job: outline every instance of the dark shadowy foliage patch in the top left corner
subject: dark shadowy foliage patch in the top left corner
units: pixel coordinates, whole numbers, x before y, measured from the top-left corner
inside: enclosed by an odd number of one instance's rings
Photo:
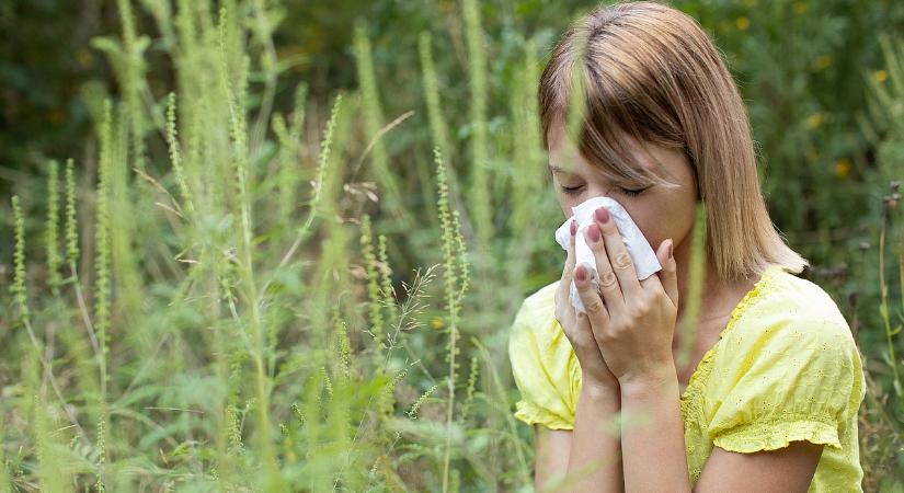
[[[0,192],[41,173],[48,156],[85,152],[91,122],[79,91],[105,81],[90,39],[112,25],[100,1],[0,2]],[[112,20],[115,22],[115,18]]]

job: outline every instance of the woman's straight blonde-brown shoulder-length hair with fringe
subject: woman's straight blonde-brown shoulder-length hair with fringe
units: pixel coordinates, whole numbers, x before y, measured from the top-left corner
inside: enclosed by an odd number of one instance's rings
[[[693,18],[641,1],[599,5],[573,23],[540,77],[547,151],[550,128],[574,113],[571,88],[583,92],[577,148],[607,177],[662,182],[632,164],[620,133],[685,152],[706,205],[707,255],[719,277],[758,277],[770,265],[800,273],[809,265],[773,226],[741,95]]]

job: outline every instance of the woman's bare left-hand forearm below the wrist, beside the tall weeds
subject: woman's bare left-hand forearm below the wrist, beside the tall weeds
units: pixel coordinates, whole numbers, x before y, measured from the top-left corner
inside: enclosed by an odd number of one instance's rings
[[[536,490],[625,491],[621,443],[614,425],[618,411],[617,389],[586,385],[581,387],[573,432],[535,425]]]

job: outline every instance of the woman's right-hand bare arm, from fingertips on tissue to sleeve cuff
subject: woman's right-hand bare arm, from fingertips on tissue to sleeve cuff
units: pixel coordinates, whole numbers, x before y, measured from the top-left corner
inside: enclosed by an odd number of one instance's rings
[[[594,254],[603,280],[600,288],[605,310],[591,310],[592,329],[607,367],[618,379],[623,415],[631,417],[632,422],[640,421],[637,425],[623,426],[621,431],[625,488],[632,492],[690,492],[678,378],[671,351],[678,307],[672,240],[663,241],[656,252],[663,268],[657,275],[639,282],[614,221],[609,220],[605,208],[596,213],[598,223],[591,225],[591,228],[602,230],[605,250],[598,248],[600,234],[596,231],[593,231],[595,238],[591,240],[597,240]],[[575,275],[575,285],[584,305],[598,305],[598,297],[585,279],[585,275]],[[826,334],[827,325],[823,319],[817,322],[817,330],[810,333]],[[835,340],[825,341],[823,337],[806,346],[812,352],[808,364],[823,358],[824,368],[835,368],[842,359],[833,358],[825,348],[842,347],[844,343],[829,344]],[[788,340],[779,341],[787,344]],[[803,341],[794,341],[791,346],[799,351],[797,347]],[[779,347],[790,349],[788,346]],[[816,351],[816,347],[823,349]],[[762,365],[768,363],[771,359],[760,359]],[[825,375],[829,374],[825,371]],[[821,447],[806,445],[786,446],[756,455],[732,455],[714,449],[701,472],[701,480],[698,480],[697,491],[736,491],[739,483],[743,484],[743,491],[804,491],[812,481],[821,452]],[[777,471],[771,467],[779,462],[782,477],[776,479]]]

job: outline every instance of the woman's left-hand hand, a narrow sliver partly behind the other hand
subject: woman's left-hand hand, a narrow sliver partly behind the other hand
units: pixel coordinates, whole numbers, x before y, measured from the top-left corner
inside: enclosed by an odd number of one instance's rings
[[[562,325],[565,336],[574,349],[574,355],[577,356],[577,362],[581,364],[582,387],[618,389],[618,380],[606,366],[606,360],[603,359],[603,354],[594,340],[590,319],[585,313],[579,313],[571,302],[571,282],[575,264],[575,229],[576,223],[572,221],[568,259],[562,271],[562,279],[556,290],[556,320]]]

